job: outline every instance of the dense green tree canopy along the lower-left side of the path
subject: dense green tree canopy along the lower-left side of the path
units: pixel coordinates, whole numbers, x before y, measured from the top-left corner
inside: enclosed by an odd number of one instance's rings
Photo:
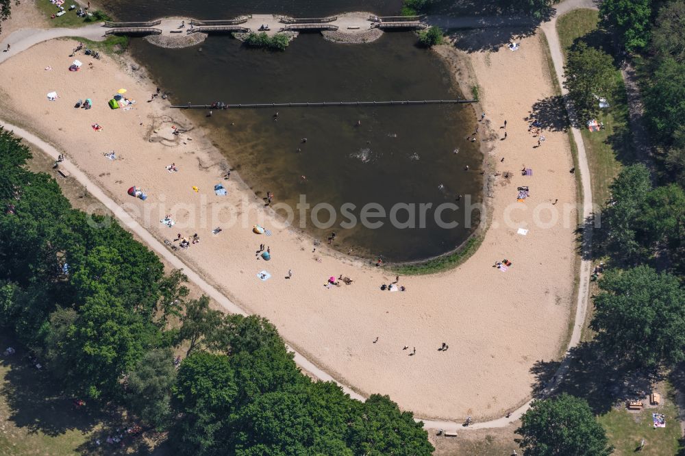
[[[114,221],[89,223],[49,175],[25,168],[29,157],[0,131],[0,327],[66,391],[169,430],[174,454],[432,452],[387,396],[361,403],[303,375],[265,318],[186,301],[181,271],[164,276]],[[178,372],[173,344],[187,346]]]

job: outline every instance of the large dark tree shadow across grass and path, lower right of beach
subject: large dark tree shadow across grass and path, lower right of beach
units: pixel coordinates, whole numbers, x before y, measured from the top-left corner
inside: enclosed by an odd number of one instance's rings
[[[635,369],[610,357],[593,342],[582,342],[566,354],[568,369],[560,377],[560,362],[538,361],[531,368],[536,381],[534,398],[547,398],[566,392],[588,401],[595,414],[604,414],[617,403],[643,398],[654,382],[662,380],[656,370]]]

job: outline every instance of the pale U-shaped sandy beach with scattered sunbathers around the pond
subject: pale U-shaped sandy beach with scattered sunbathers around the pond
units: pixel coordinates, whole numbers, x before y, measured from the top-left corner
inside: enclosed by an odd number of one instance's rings
[[[155,86],[142,70],[107,56],[77,55],[84,66],[70,72],[73,47],[72,40],[53,40],[0,64],[0,118],[63,149],[160,240],[197,233],[200,242],[177,254],[230,299],[273,321],[289,344],[341,383],[362,394],[389,394],[416,416],[482,419],[527,400],[534,381],[530,368],[556,357],[567,337],[576,261],[575,209],[566,210],[566,220],[549,221],[551,212],[575,207],[566,134],[546,131],[545,142],[534,147],[538,138],[524,120],[536,101],[553,94],[538,36],[521,40],[516,52],[503,47],[462,56],[481,86],[488,133],[481,126],[480,138],[494,137],[486,143],[488,161],[499,173],[492,221],[473,257],[446,273],[400,277],[406,292],[379,290],[395,281],[383,268],[324,245],[312,251],[312,240],[273,217],[235,173],[223,179],[229,164],[203,137],[201,125],[166,101],[147,103]],[[108,107],[119,88],[136,100],[131,109]],[[48,101],[53,90],[59,98]],[[74,108],[86,98],[93,101],[91,110]],[[508,135],[499,140],[505,120]],[[96,123],[100,131],[92,129]],[[172,126],[189,131],[175,136]],[[105,157],[110,151],[118,160]],[[172,163],[175,173],[166,170]],[[524,165],[533,175],[521,175]],[[216,183],[227,188],[226,197],[214,194]],[[130,197],[131,186],[148,199]],[[517,186],[530,186],[530,197],[512,205]],[[166,214],[174,227],[160,223]],[[238,223],[231,223],[231,214]],[[273,235],[253,233],[256,223]],[[223,231],[212,234],[219,226]],[[521,227],[525,236],[517,234]],[[271,249],[270,262],[256,256],[262,243]],[[493,268],[503,258],[512,262],[506,272]],[[258,279],[262,270],[271,279]],[[353,283],[324,286],[340,275]],[[443,342],[448,351],[438,351]]]

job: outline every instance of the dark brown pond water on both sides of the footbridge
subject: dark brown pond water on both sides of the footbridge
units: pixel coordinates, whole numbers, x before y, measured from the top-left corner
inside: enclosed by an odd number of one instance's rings
[[[127,21],[171,15],[230,18],[246,12],[397,14],[399,1],[119,1],[110,9]],[[173,93],[175,103],[462,97],[443,62],[415,44],[411,32],[384,34],[363,45],[339,45],[319,34],[301,34],[286,51],[271,52],[247,49],[229,36],[210,36],[187,49],[133,40],[132,52],[158,84]],[[456,222],[457,227],[439,225],[434,212],[443,203],[462,205],[466,195],[476,202],[482,199],[482,154],[477,143],[466,140],[476,124],[470,105],[283,108],[277,121],[269,109],[214,110],[210,118],[201,111],[186,113],[208,127],[212,141],[258,195],[269,190],[275,202],[293,208],[301,195],[310,207],[329,204],[336,214],[334,223],[308,223],[305,229],[319,239],[335,231],[334,246],[340,251],[352,248],[356,255],[382,255],[390,261],[424,259],[454,249],[477,225],[475,213],[473,225],[464,226],[461,207],[447,207],[440,214],[445,224]],[[464,171],[467,164],[469,172]],[[465,197],[457,202],[458,195]],[[359,220],[369,203],[380,205],[388,215],[397,203],[414,204],[416,212],[410,217],[410,209],[396,207],[399,227],[390,218],[374,218],[384,222],[377,228],[360,223],[348,227],[350,217],[345,214]],[[432,206],[425,212],[423,228],[422,203]],[[349,208],[345,214],[343,207]],[[326,222],[329,209],[322,209],[318,219]],[[410,218],[416,227],[407,223]]]

